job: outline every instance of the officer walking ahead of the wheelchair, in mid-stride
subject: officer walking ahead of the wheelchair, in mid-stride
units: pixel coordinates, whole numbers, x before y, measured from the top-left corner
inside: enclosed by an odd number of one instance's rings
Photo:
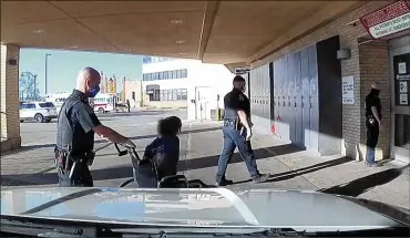
[[[263,183],[269,178],[268,174],[260,174],[257,169],[254,152],[250,146],[252,122],[250,102],[244,94],[246,82],[242,76],[234,77],[234,89],[224,97],[224,148],[218,161],[216,185],[225,186],[233,184],[233,180],[225,178],[226,167],[236,147],[244,158],[246,167],[255,183]]]

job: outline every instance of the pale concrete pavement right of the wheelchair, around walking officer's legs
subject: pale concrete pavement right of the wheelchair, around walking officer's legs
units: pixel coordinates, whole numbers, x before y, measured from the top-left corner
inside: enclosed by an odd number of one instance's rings
[[[191,179],[214,184],[222,132],[192,135],[188,143],[184,174]],[[394,162],[369,168],[344,156],[319,156],[276,136],[257,133],[253,137],[253,147],[259,170],[269,173],[271,178],[264,184],[252,183],[245,163],[236,152],[227,170],[227,178],[235,182],[230,188],[320,190],[410,208],[410,168],[406,164]]]

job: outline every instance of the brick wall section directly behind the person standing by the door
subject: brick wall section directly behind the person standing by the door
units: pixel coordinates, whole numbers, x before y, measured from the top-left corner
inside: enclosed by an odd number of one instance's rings
[[[387,41],[372,41],[359,45],[361,108],[365,108],[365,99],[372,83],[378,82],[381,90],[382,126],[376,151],[377,158],[387,158],[390,155],[390,80],[387,49]],[[362,144],[360,151],[363,153],[366,148],[363,146],[366,144],[365,110],[361,110],[360,118],[360,142]]]

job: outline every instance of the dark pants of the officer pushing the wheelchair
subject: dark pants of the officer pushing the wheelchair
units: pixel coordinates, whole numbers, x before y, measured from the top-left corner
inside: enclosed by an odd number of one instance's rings
[[[63,159],[63,163],[65,163]],[[75,165],[75,172],[73,173],[72,177],[69,178],[70,170],[72,164],[70,163],[68,169],[59,169],[59,187],[92,187],[93,186],[93,178],[89,166],[85,163],[79,162]]]

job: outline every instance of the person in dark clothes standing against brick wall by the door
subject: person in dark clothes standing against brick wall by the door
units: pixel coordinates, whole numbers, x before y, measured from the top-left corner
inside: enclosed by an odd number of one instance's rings
[[[375,163],[375,149],[379,141],[379,131],[381,125],[381,103],[379,99],[380,90],[378,83],[371,85],[370,93],[366,96],[366,128],[367,128],[367,153],[366,165],[377,167]]]

